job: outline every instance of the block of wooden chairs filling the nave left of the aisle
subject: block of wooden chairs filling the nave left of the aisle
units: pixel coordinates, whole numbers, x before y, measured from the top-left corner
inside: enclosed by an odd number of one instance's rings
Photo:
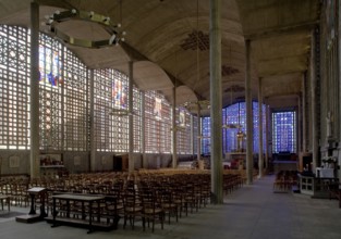
[[[14,180],[1,180],[0,193],[11,194],[15,186]],[[102,219],[118,219],[123,217],[123,227],[127,224],[134,228],[135,218],[141,218],[143,228],[146,225],[151,227],[156,222],[160,222],[163,228],[166,217],[168,223],[171,218],[175,222],[183,215],[188,215],[205,207],[210,201],[210,174],[207,172],[193,171],[144,171],[134,174],[127,173],[97,173],[97,174],[71,174],[65,178],[32,178],[31,180],[15,180],[15,185],[22,186],[23,199],[15,201],[29,204],[27,189],[32,187],[44,187],[47,189],[46,211],[52,212],[53,193],[86,193],[103,194],[103,200],[99,205],[94,205],[93,215],[100,215]],[[223,189],[231,192],[243,185],[241,175],[226,174],[223,176]],[[16,187],[17,188],[17,187]],[[10,190],[11,189],[11,190]],[[12,197],[12,196],[11,196]],[[13,193],[14,197],[14,193]],[[134,204],[132,204],[134,202]],[[36,199],[35,205],[39,207],[41,199]],[[64,216],[65,202],[58,202],[60,216]],[[87,206],[87,205],[83,205]],[[84,216],[87,212],[77,202],[71,202],[71,214],[73,217]],[[115,217],[113,215],[118,215]]]

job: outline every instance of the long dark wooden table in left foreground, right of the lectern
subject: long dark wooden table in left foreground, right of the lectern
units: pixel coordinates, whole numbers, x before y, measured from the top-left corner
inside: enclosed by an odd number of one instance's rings
[[[78,225],[84,226],[87,225],[88,234],[94,231],[94,222],[93,222],[93,204],[98,203],[98,209],[100,206],[100,202],[106,199],[105,196],[92,196],[92,194],[73,194],[73,193],[64,193],[64,194],[54,194],[53,199],[53,207],[52,207],[52,227],[58,226],[59,224],[69,224],[69,225]],[[66,203],[66,212],[65,217],[58,217],[57,214],[57,200],[65,201]],[[71,218],[70,217],[70,205],[71,201],[81,202],[82,203],[82,218]],[[85,203],[88,203],[88,219],[85,219]],[[98,218],[100,213],[98,212]]]

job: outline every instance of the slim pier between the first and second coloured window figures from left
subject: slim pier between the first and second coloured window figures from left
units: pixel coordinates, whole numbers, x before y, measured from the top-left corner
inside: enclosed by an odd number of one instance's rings
[[[90,87],[90,162],[89,162],[89,172],[96,171],[96,142],[95,142],[95,90],[94,90],[94,70],[90,70],[89,75],[89,87]]]

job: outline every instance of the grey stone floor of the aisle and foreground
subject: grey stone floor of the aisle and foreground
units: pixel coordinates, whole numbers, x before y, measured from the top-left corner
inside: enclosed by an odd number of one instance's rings
[[[60,226],[51,228],[46,222],[25,224],[15,217],[0,214],[0,238],[13,239],[76,239],[76,238],[173,238],[173,239],[333,239],[341,238],[341,209],[337,200],[312,199],[300,193],[273,193],[272,176],[257,179],[251,186],[226,196],[224,203],[208,205],[198,212],[174,219],[165,229],[156,225],[143,231],[136,227],[87,234],[84,228]],[[28,207],[12,207],[13,212],[28,212]]]

